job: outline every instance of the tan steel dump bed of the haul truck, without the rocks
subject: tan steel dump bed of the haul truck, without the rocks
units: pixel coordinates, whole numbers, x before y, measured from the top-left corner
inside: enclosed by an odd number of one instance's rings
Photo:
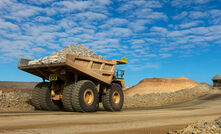
[[[91,77],[106,84],[111,84],[116,65],[127,64],[127,61],[104,60],[67,54],[62,63],[28,65],[28,59],[20,59],[18,68],[49,80],[50,74],[56,74],[63,81],[69,81],[76,75]]]

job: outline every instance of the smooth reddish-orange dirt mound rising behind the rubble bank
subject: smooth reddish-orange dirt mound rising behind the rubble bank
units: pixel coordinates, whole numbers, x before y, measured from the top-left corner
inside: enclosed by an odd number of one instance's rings
[[[125,91],[126,96],[144,95],[149,93],[175,92],[177,90],[193,88],[199,83],[186,77],[179,78],[151,78],[140,81],[137,85]]]

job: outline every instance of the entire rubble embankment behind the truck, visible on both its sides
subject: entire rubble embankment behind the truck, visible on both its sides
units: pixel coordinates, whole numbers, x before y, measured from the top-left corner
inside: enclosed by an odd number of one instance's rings
[[[190,101],[212,92],[208,84],[182,89],[169,93],[150,93],[145,95],[125,96],[124,110],[134,108],[153,108]],[[4,91],[0,88],[0,112],[32,112],[31,92]]]

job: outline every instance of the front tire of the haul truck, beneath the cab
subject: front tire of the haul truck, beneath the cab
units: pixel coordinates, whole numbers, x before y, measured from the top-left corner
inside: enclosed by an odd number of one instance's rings
[[[115,103],[113,100],[114,94],[118,94],[120,97],[118,103]],[[107,89],[106,94],[102,96],[102,103],[107,111],[121,111],[124,104],[124,94],[121,86],[117,83],[112,83],[110,88]]]

